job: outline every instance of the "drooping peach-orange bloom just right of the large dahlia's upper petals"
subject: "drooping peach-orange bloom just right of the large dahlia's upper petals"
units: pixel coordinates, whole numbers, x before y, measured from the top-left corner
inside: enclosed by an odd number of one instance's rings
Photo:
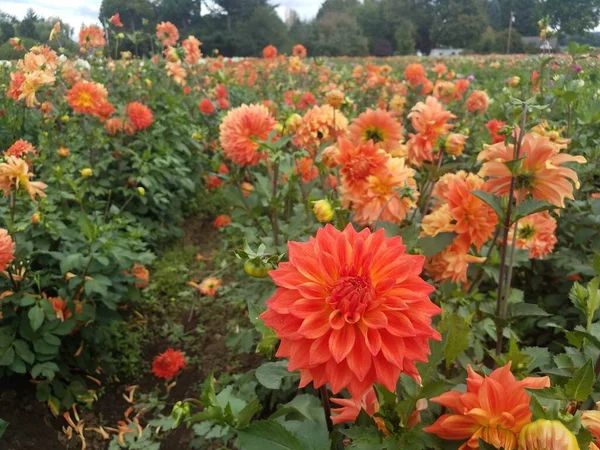
[[[483,257],[470,255],[468,245],[455,240],[445,250],[427,260],[425,271],[437,282],[466,283],[469,264],[484,261]]]

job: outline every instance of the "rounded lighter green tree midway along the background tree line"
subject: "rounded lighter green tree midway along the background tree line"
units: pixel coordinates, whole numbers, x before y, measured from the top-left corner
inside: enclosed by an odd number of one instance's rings
[[[369,41],[356,18],[346,13],[329,12],[317,21],[318,53],[326,56],[364,56]]]

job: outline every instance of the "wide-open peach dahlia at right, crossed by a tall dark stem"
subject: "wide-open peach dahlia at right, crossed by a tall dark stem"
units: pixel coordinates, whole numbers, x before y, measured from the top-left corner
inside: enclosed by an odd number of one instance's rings
[[[559,146],[547,137],[532,133],[525,134],[520,158],[523,158],[516,175],[515,196],[523,200],[527,194],[537,200],[545,200],[564,207],[565,198],[573,199],[573,184],[579,188],[579,178],[574,170],[562,164],[577,162],[583,164],[583,156],[559,153]],[[479,153],[477,160],[485,161],[479,175],[488,177],[485,189],[498,195],[509,193],[512,174],[504,164],[514,159],[512,144],[499,142],[488,145]]]

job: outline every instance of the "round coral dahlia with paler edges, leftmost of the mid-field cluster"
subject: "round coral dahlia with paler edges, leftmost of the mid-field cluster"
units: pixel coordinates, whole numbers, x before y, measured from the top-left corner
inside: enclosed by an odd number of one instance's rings
[[[266,141],[277,122],[263,105],[242,105],[227,113],[219,126],[225,156],[240,166],[254,166],[266,157],[256,140]]]

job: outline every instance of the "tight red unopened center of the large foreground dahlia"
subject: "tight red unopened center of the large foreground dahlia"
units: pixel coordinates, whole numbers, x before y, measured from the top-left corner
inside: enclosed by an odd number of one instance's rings
[[[365,313],[375,289],[367,276],[344,276],[335,282],[327,303],[339,311],[346,322],[356,323]]]

